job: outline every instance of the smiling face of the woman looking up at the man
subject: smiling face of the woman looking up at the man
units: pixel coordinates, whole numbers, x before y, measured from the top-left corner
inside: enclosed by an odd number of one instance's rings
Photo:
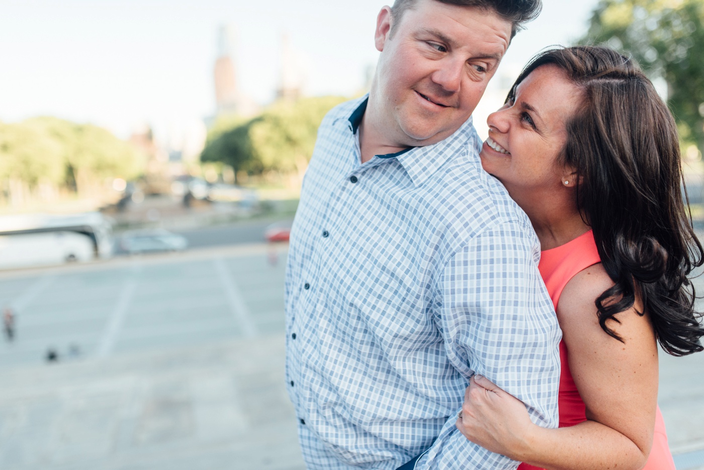
[[[513,101],[487,118],[482,166],[519,204],[574,185],[572,171],[557,158],[567,138],[565,123],[581,101],[562,70],[540,66],[516,87]]]

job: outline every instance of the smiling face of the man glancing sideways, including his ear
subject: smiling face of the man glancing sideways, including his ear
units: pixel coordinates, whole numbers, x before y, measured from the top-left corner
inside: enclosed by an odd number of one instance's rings
[[[397,20],[394,35],[391,22]],[[377,18],[382,52],[372,85],[372,125],[394,147],[434,144],[460,128],[494,76],[511,23],[494,11],[418,0],[403,16]]]

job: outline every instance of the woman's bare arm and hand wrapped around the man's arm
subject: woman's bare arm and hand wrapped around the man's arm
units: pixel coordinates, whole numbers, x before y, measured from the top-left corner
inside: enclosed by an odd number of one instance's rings
[[[494,452],[546,469],[641,469],[646,464],[658,398],[658,350],[648,316],[635,309],[599,326],[594,299],[613,285],[601,264],[574,276],[560,295],[558,319],[570,371],[586,404],[587,421],[546,429],[535,426],[524,405],[486,378],[465,393],[465,436]],[[636,305],[635,307],[639,307]]]

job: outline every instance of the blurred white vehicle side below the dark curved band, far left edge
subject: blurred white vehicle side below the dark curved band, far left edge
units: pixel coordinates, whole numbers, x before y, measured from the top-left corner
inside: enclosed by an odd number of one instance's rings
[[[81,233],[59,230],[0,236],[0,268],[90,261],[94,257],[93,241]]]

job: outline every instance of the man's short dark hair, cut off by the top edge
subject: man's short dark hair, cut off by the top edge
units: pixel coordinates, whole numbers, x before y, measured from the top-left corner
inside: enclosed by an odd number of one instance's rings
[[[511,39],[517,32],[523,29],[524,24],[538,18],[543,9],[541,0],[431,0],[439,1],[442,4],[456,6],[473,6],[482,8],[486,11],[496,11],[498,16],[504,20],[511,22]],[[406,10],[413,9],[417,0],[395,0],[394,6],[391,7],[391,23],[390,34],[394,34],[394,30],[398,23],[403,18],[403,13]]]

